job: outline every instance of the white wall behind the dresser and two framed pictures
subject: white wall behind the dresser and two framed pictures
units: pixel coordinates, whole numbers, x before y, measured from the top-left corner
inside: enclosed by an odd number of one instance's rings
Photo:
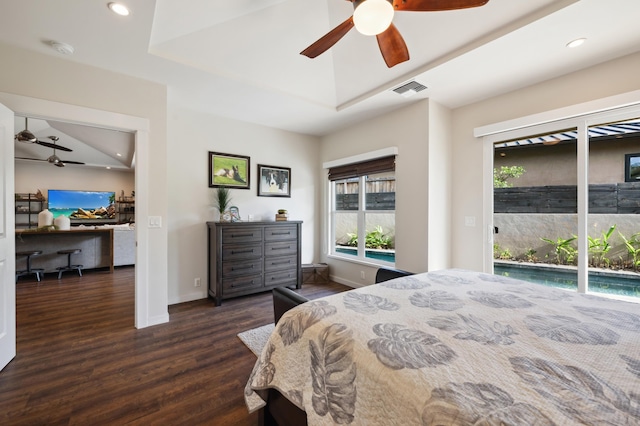
[[[320,140],[171,106],[169,92],[169,303],[207,297],[207,221],[218,220],[209,188],[209,151],[250,157],[250,189],[232,189],[243,220],[302,220],[302,263],[319,259],[316,236]],[[258,164],[291,168],[291,198],[258,197]],[[201,278],[202,287],[194,287]]]

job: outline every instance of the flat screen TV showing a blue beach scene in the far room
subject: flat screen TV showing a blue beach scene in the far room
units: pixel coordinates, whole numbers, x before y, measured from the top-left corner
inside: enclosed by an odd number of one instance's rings
[[[116,193],[113,191],[49,190],[49,211],[55,219],[64,215],[71,223],[116,222]]]

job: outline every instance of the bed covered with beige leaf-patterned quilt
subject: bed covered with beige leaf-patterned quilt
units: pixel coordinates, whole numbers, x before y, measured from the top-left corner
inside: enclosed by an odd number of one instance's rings
[[[245,387],[250,411],[274,394],[309,425],[640,424],[640,305],[463,270],[392,279],[286,312]]]

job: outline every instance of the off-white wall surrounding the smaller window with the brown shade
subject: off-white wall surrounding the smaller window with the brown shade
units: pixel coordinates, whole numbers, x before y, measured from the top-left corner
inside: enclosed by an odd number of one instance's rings
[[[437,116],[446,117],[446,109],[431,101],[419,101],[403,109],[387,113],[375,120],[357,124],[351,128],[323,137],[322,154],[319,163],[351,157],[388,147],[397,147],[396,157],[396,267],[413,272],[428,270],[429,246],[429,155],[430,137],[438,144],[446,139],[441,133],[430,134],[429,116],[435,108]],[[446,132],[444,132],[446,134]],[[440,145],[436,152],[448,148]],[[321,165],[317,167],[321,168]],[[446,167],[446,165],[445,165]],[[327,175],[320,170],[320,184],[323,188],[322,211],[328,209],[326,203]],[[433,178],[438,184],[447,186],[448,173]],[[440,199],[441,197],[437,197]],[[447,209],[437,205],[434,209]],[[323,261],[329,263],[331,276],[338,282],[354,287],[371,284],[375,278],[376,266],[353,263],[335,258],[327,258],[327,242],[324,235],[327,224],[322,228]],[[445,239],[441,243],[447,245]],[[448,249],[444,250],[448,253]],[[360,277],[365,272],[365,278]]]

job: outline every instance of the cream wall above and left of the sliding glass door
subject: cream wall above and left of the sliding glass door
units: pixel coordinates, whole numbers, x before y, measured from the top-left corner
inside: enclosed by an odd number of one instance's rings
[[[640,54],[633,54],[453,112],[453,155],[464,167],[452,176],[451,266],[483,268],[482,185],[491,176],[483,176],[482,143],[473,137],[474,128],[638,90],[639,70]],[[464,226],[465,216],[476,217],[477,226]]]

